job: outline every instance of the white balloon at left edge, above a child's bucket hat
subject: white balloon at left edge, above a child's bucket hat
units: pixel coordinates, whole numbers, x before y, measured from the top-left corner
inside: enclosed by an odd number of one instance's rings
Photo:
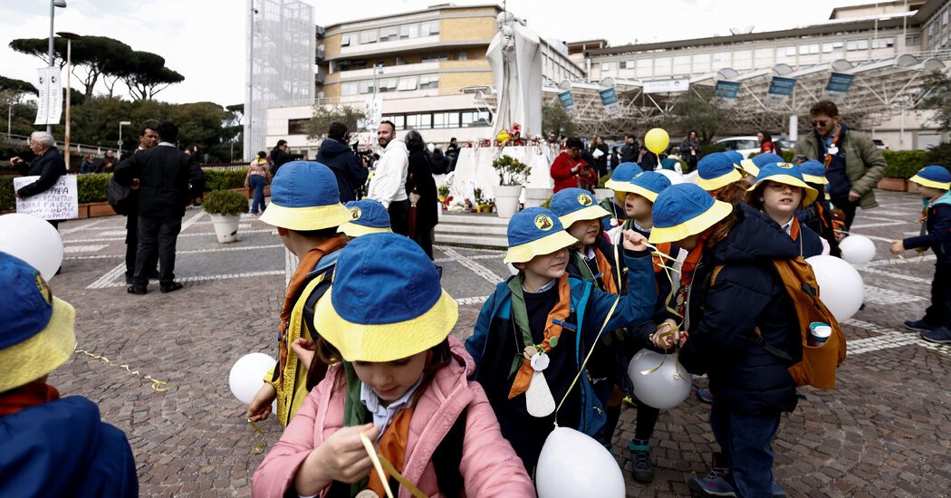
[[[0,251],[28,262],[52,279],[63,264],[63,239],[49,221],[33,215],[0,216]]]

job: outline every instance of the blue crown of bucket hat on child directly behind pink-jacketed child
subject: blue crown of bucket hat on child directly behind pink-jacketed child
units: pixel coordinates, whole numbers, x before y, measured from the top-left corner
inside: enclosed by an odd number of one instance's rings
[[[320,207],[340,203],[337,177],[313,161],[285,163],[271,182],[271,201],[281,207]]]

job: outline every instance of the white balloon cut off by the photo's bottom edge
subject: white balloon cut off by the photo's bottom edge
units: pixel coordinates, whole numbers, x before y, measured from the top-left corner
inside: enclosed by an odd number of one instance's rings
[[[535,469],[539,498],[622,498],[624,474],[611,453],[583,432],[555,428],[545,439]]]

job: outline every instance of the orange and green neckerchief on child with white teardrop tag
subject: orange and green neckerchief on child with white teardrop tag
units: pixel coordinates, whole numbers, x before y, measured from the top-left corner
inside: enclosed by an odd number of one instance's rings
[[[515,320],[515,326],[519,329],[526,329],[521,331],[522,335],[532,335],[532,331],[527,330],[529,326],[528,312],[525,307],[525,294],[522,291],[521,278],[509,280],[509,290],[512,291],[512,315]],[[524,318],[518,317],[518,314],[523,315]],[[541,344],[534,346],[546,354],[552,351],[552,337],[554,337],[554,341],[557,343],[558,338],[561,337],[561,324],[564,323],[571,314],[572,287],[568,283],[568,274],[566,273],[562,275],[561,278],[558,278],[558,302],[555,303],[552,311],[548,314],[548,318],[545,320],[545,323],[548,324],[545,327],[545,339]],[[518,323],[519,321],[524,321],[525,323]],[[581,331],[577,333],[581,334]],[[528,346],[533,346],[533,344],[525,344],[525,347]],[[512,389],[509,391],[509,399],[528,391],[529,383],[532,381],[532,373],[534,373],[532,362],[529,358],[522,358],[522,364],[518,368],[518,372],[515,373]]]

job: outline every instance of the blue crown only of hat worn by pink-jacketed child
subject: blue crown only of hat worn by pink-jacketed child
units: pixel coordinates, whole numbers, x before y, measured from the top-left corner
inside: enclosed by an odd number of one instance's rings
[[[330,298],[337,314],[351,323],[385,325],[422,316],[441,295],[436,265],[419,245],[380,232],[340,250]]]

